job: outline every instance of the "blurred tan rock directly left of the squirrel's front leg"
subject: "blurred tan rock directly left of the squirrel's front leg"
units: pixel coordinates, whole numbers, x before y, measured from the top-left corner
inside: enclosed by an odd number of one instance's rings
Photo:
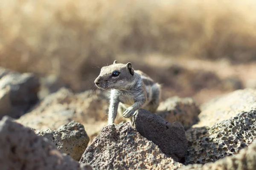
[[[52,129],[70,121],[84,125],[90,136],[99,133],[107,124],[108,97],[105,93],[86,91],[74,94],[61,88],[58,92],[48,95],[35,108],[21,116],[17,122],[36,130]],[[99,126],[95,126],[98,124]]]

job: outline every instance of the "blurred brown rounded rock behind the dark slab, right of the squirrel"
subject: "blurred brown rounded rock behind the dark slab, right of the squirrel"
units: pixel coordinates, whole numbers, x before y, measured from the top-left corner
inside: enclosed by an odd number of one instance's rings
[[[168,98],[160,103],[156,114],[166,121],[178,122],[188,129],[198,121],[200,109],[192,98],[179,98],[177,96]]]

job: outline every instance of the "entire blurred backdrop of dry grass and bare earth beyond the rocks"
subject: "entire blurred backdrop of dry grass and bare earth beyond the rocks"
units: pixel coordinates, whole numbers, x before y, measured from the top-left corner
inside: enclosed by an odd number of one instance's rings
[[[1,0],[0,66],[81,92],[114,60],[162,84],[162,99],[255,88],[256,1]]]

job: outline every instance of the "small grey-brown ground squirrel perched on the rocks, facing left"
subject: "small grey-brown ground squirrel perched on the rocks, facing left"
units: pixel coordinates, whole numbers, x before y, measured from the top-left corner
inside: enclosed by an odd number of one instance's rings
[[[100,89],[111,89],[108,124],[114,123],[117,112],[123,118],[131,117],[140,108],[154,113],[159,106],[160,84],[142,71],[134,70],[131,63],[116,62],[102,67],[94,81]]]

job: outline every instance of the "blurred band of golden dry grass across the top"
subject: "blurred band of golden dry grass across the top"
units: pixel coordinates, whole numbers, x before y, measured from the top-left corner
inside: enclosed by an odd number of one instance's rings
[[[58,74],[81,89],[99,72],[94,66],[113,58],[157,52],[249,62],[255,7],[253,0],[1,0],[0,66]]]

